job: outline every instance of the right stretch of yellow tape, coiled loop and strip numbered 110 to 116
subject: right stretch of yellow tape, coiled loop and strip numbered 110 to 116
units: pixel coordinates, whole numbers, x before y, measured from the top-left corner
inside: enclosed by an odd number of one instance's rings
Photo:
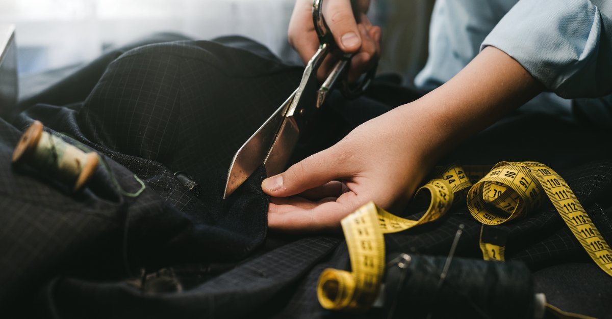
[[[501,185],[506,187],[506,190],[494,200],[490,200],[484,194],[491,196],[491,185]],[[468,209],[472,216],[482,224],[499,225],[523,216],[527,211],[539,206],[542,190],[591,259],[612,276],[610,246],[600,235],[599,230],[565,180],[542,163],[502,162],[497,164],[489,174],[470,189],[467,199]],[[487,207],[486,204],[491,204],[492,207],[491,205]],[[505,213],[510,213],[510,215]]]

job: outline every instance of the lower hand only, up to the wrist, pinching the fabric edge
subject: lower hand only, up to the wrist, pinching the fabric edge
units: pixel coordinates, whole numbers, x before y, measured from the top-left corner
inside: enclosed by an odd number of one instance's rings
[[[262,187],[273,196],[269,227],[331,230],[370,200],[386,208],[404,204],[429,171],[435,145],[429,128],[403,120],[409,109],[372,119],[333,147],[265,180]]]

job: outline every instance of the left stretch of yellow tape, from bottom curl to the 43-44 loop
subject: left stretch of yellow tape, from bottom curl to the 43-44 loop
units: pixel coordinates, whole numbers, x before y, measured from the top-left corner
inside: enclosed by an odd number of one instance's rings
[[[441,173],[443,179],[431,180],[417,190],[415,197],[428,191],[431,200],[429,208],[416,221],[392,215],[374,202],[342,219],[352,271],[327,268],[321,273],[317,284],[321,306],[332,310],[364,310],[371,306],[384,274],[383,235],[439,219],[452,207],[454,194],[471,185],[463,171],[455,166],[442,169]]]

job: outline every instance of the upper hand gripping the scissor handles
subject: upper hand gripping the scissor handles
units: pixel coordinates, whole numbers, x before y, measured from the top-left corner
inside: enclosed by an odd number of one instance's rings
[[[362,73],[376,64],[380,52],[381,28],[373,26],[365,15],[370,0],[357,0],[359,23],[356,22],[350,0],[323,1],[323,17],[344,53],[356,53],[348,71],[349,81],[356,81]],[[289,21],[289,44],[307,63],[319,48],[319,39],[312,21],[312,0],[297,0]],[[338,57],[330,54],[319,68],[317,76],[324,79]]]

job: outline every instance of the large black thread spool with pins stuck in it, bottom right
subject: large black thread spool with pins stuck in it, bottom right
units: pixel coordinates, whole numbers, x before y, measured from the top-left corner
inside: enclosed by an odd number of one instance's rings
[[[535,318],[542,308],[523,263],[455,258],[439,285],[446,257],[402,255],[387,270],[384,318]]]

